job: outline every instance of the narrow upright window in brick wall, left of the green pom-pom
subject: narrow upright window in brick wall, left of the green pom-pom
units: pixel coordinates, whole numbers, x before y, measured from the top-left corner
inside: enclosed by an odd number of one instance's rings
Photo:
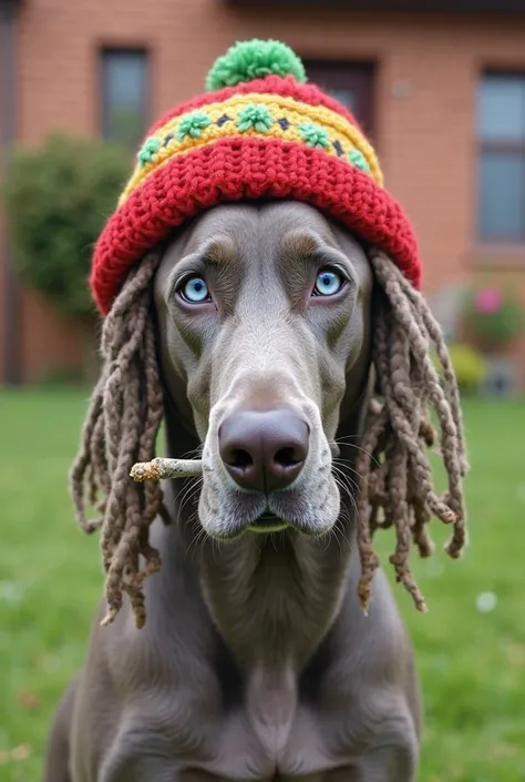
[[[102,134],[135,145],[147,130],[147,52],[102,51]]]

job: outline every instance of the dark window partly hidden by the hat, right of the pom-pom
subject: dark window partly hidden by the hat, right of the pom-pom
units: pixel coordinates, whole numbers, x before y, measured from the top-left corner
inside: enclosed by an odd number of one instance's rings
[[[373,63],[305,60],[305,68],[309,80],[346,105],[367,136],[373,139]]]

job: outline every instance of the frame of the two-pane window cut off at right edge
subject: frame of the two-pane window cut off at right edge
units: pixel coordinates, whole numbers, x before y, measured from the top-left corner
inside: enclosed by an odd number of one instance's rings
[[[525,89],[525,68],[497,68],[485,67],[481,70],[477,79],[476,101],[480,100],[480,91],[483,88],[483,82],[490,77],[501,77],[508,79],[519,79],[523,81]],[[475,236],[476,244],[481,247],[503,247],[517,248],[525,252],[525,210],[524,221],[518,235],[497,235],[488,236],[483,232],[481,224],[481,202],[482,202],[482,184],[480,181],[480,167],[484,153],[502,153],[502,154],[522,154],[525,160],[525,132],[522,139],[484,139],[482,129],[478,124],[477,103],[474,111],[475,124],[475,165],[476,165],[476,197],[475,197]],[[525,187],[525,186],[524,186]],[[524,194],[525,205],[525,194]]]

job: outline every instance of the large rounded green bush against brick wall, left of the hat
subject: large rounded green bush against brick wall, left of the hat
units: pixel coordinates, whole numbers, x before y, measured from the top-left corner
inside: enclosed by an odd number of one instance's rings
[[[16,267],[65,315],[95,315],[86,278],[94,242],[114,210],[130,152],[61,134],[14,153],[3,195]]]

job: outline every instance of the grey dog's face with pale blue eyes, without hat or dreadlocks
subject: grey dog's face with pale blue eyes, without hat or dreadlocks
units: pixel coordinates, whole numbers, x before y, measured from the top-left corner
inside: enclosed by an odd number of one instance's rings
[[[368,375],[371,294],[361,245],[301,203],[216,207],[165,251],[162,368],[204,444],[210,536],[334,525],[334,438]]]

